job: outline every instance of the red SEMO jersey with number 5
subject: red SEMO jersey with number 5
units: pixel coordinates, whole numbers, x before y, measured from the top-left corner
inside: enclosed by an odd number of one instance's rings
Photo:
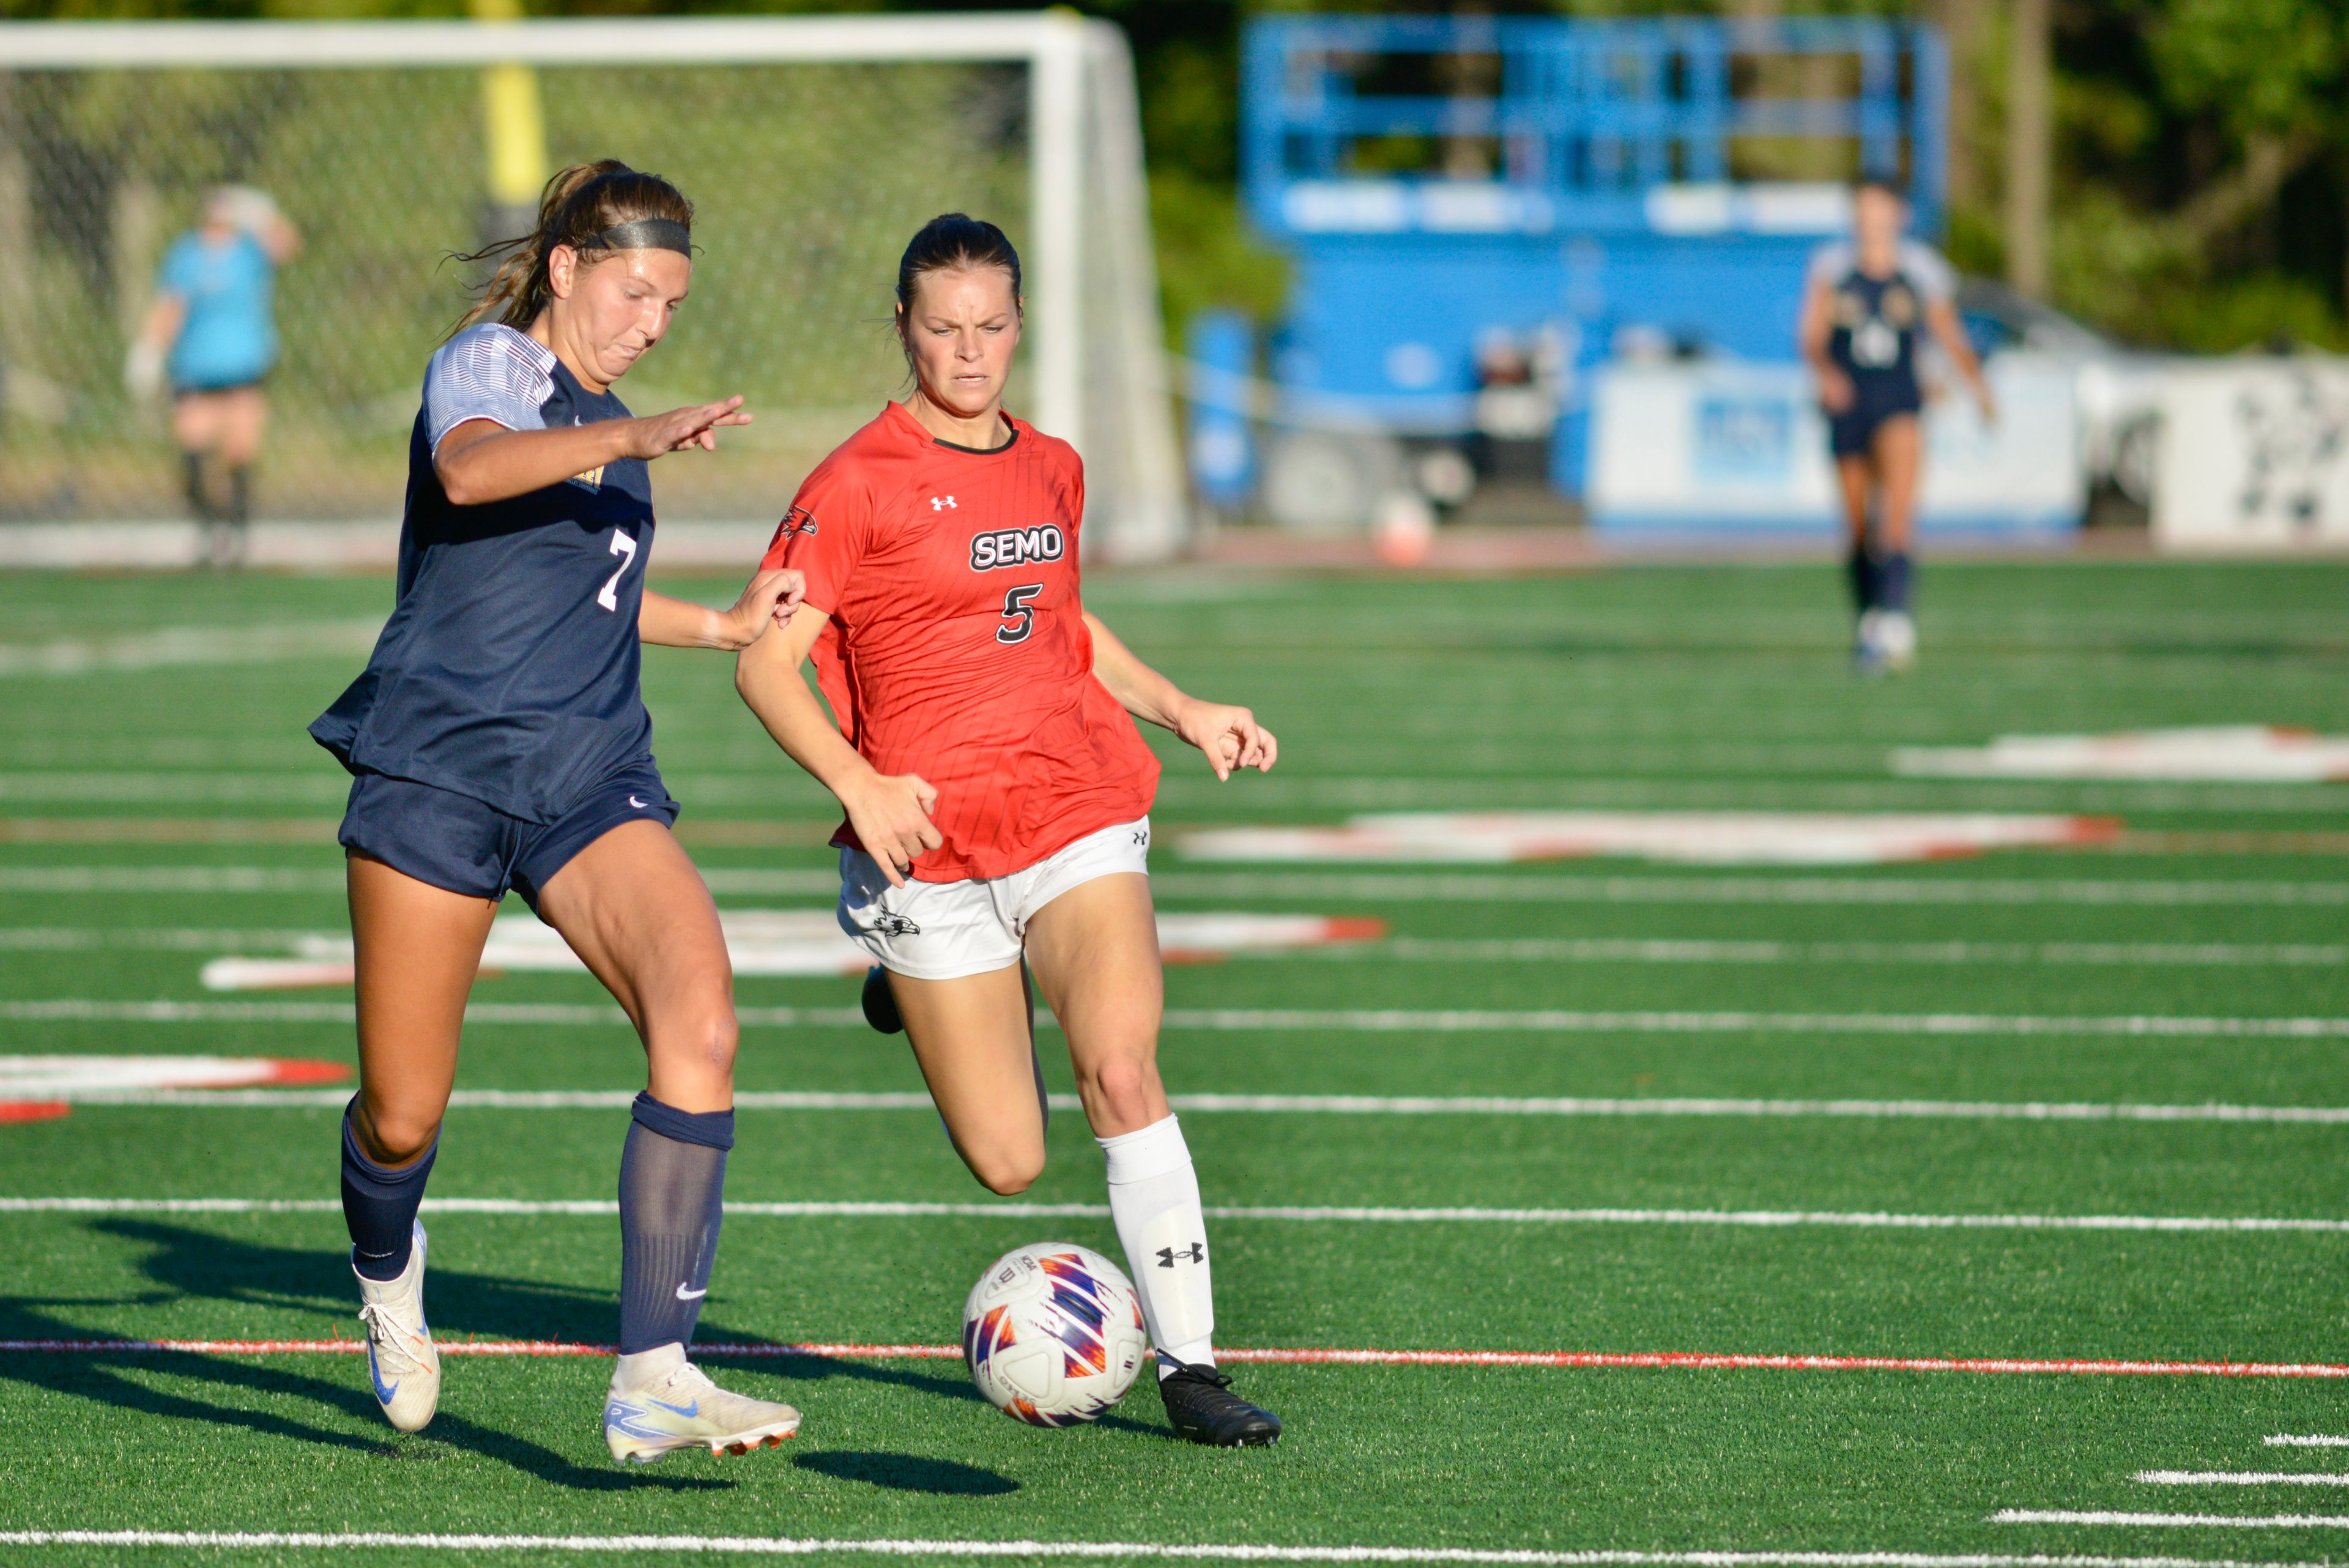
[[[1008,447],[935,440],[902,404],[799,487],[761,567],[808,574],[815,679],[881,773],[937,788],[921,882],[1005,877],[1146,816],[1158,757],[1092,677],[1076,543],[1085,468],[1003,416]],[[857,846],[848,823],[832,839]]]

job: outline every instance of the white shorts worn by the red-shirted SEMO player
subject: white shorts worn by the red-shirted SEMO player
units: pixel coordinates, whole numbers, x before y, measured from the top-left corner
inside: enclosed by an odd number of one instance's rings
[[[890,973],[958,980],[1010,969],[1027,950],[1027,924],[1069,889],[1095,877],[1151,870],[1151,818],[1088,832],[1008,877],[907,882],[890,886],[862,849],[841,851],[841,931]]]

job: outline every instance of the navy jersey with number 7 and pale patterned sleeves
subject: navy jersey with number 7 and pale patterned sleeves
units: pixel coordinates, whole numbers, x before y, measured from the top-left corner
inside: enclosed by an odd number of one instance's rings
[[[359,679],[310,724],[343,766],[552,823],[651,757],[637,646],[653,548],[644,461],[482,505],[453,505],[432,468],[467,418],[540,430],[627,416],[512,327],[470,327],[432,355],[392,618]]]

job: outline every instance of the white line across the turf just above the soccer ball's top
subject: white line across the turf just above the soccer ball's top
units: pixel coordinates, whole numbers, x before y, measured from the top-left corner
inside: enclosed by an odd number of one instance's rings
[[[341,1213],[341,1199],[103,1199],[0,1197],[0,1213]],[[608,1215],[613,1199],[425,1199],[425,1213]],[[726,1213],[763,1220],[1106,1220],[1109,1204],[738,1204]],[[1297,1225],[1729,1225],[1785,1229],[2088,1229],[2088,1232],[2314,1232],[2349,1234],[2349,1220],[2260,1215],[2044,1215],[2044,1213],[1839,1213],[1806,1208],[1344,1208],[1212,1204],[1214,1220]]]

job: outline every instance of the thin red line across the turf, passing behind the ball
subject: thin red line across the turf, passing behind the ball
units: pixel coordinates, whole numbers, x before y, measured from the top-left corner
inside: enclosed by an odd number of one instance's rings
[[[571,1340],[437,1340],[444,1356],[611,1356],[613,1345]],[[0,1340],[0,1354],[357,1354],[366,1340]],[[958,1361],[961,1345],[695,1345],[698,1356],[839,1361]],[[2349,1378],[2333,1361],[2107,1361],[2086,1356],[1757,1356],[1689,1349],[1217,1349],[1219,1361],[1276,1366],[1569,1366],[1781,1373],[1978,1373],[2069,1378]]]

